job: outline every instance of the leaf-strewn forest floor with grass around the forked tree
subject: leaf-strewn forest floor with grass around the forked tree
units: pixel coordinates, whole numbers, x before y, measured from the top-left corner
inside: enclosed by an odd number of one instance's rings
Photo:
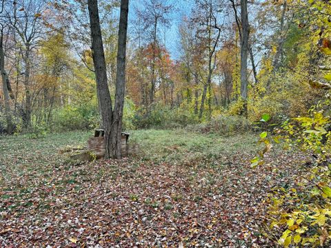
[[[251,169],[257,134],[183,130],[133,131],[121,161],[59,154],[91,135],[0,136],[1,247],[272,247],[265,196],[305,160],[276,148]]]

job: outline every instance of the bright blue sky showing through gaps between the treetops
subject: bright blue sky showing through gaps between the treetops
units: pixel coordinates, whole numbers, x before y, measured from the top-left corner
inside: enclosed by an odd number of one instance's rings
[[[137,18],[135,9],[143,8],[144,0],[131,0],[129,6],[129,27],[128,32],[132,32],[134,21]],[[149,0],[148,0],[149,1]],[[194,6],[194,0],[169,0],[174,4],[174,11],[170,14],[171,24],[169,28],[159,28],[159,39],[165,43],[165,48],[170,52],[172,59],[179,58],[179,24],[184,16],[188,16]]]

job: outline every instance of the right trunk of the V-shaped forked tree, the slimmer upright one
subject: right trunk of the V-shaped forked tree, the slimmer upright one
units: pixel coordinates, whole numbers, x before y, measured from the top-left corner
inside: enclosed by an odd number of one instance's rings
[[[124,94],[126,91],[126,39],[128,33],[129,0],[121,0],[121,13],[119,17],[119,44],[117,51],[116,94],[114,105],[114,131],[112,143],[114,158],[121,158],[121,132],[124,106]]]

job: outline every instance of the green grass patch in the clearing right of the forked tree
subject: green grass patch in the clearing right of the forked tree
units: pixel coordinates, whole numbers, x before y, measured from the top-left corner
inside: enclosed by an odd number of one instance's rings
[[[249,133],[221,136],[185,130],[137,130],[131,132],[130,142],[139,143],[142,158],[154,163],[183,163],[257,151],[257,134]]]

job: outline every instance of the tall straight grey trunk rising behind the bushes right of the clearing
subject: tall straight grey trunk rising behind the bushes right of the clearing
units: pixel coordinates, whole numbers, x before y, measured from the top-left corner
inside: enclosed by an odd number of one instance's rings
[[[247,78],[247,58],[248,58],[248,39],[250,35],[250,27],[248,24],[247,0],[241,0],[241,68],[240,93],[243,99],[243,115],[248,116],[247,96],[248,96],[248,78]]]

